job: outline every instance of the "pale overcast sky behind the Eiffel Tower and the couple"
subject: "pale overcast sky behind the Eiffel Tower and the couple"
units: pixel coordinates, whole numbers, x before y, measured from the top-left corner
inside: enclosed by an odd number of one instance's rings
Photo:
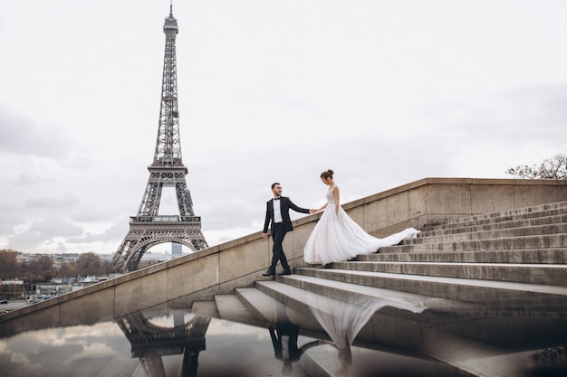
[[[168,0],[0,0],[0,249],[113,253],[148,183]],[[183,161],[209,245],[270,184],[343,203],[567,152],[564,0],[185,0]],[[166,190],[160,214],[177,214]],[[163,248],[162,248],[163,249]]]

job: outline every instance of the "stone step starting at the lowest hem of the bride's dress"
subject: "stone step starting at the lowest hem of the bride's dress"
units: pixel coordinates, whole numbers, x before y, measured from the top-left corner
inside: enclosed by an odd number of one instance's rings
[[[351,261],[333,268],[567,287],[567,264]]]

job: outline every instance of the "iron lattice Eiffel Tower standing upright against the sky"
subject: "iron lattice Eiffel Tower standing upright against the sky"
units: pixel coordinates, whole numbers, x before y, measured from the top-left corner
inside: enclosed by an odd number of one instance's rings
[[[201,218],[193,212],[193,202],[185,180],[187,167],[181,159],[175,48],[178,21],[173,17],[173,5],[169,5],[169,15],[165,19],[163,32],[166,34],[166,50],[154,161],[148,167],[148,185],[138,214],[130,217],[130,231],[112,257],[112,264],[117,272],[138,269],[144,252],[159,243],[176,242],[194,251],[208,247],[201,232]],[[175,187],[178,215],[158,215],[163,187]]]

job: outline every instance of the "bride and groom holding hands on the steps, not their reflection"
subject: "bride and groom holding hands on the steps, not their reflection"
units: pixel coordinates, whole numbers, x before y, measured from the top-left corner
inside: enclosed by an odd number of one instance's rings
[[[331,169],[322,172],[323,184],[329,186],[327,203],[318,210],[307,210],[293,204],[290,198],[281,196],[282,186],[272,184],[274,198],[266,203],[264,231],[262,236],[267,237],[268,226],[271,225],[274,240],[272,264],[264,276],[275,275],[275,266],[280,260],[283,275],[291,274],[291,269],[283,253],[282,242],[287,231],[293,231],[289,210],[302,213],[323,211],[321,219],[315,225],[312,234],[303,248],[303,259],[311,264],[326,265],[332,262],[347,260],[360,254],[371,254],[381,247],[395,245],[401,240],[417,237],[419,231],[408,228],[379,239],[364,231],[359,224],[353,221],[341,208],[339,187],[334,184]]]

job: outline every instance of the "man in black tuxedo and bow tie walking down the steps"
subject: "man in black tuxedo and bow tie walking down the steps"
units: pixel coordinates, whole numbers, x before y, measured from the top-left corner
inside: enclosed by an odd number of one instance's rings
[[[313,213],[315,210],[306,210],[293,204],[290,198],[282,196],[282,185],[272,184],[272,193],[274,198],[266,203],[264,231],[262,237],[264,240],[268,237],[268,226],[272,231],[272,240],[274,240],[274,249],[272,249],[272,264],[269,269],[262,274],[264,277],[275,275],[275,266],[278,260],[282,263],[283,272],[281,275],[292,275],[292,269],[287,264],[287,258],[283,253],[282,242],[285,233],[293,231],[292,221],[290,219],[290,208],[295,212]]]

